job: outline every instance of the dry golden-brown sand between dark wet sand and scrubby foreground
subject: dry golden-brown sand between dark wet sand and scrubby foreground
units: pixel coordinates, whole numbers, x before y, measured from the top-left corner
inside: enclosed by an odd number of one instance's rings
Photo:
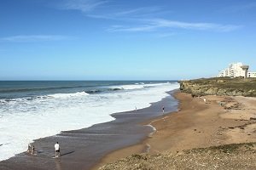
[[[178,92],[179,111],[145,122],[156,131],[140,144],[113,151],[105,156],[102,165],[131,156],[147,153],[156,155],[165,151],[206,148],[220,144],[256,142],[256,99],[248,97],[205,96],[192,98]]]

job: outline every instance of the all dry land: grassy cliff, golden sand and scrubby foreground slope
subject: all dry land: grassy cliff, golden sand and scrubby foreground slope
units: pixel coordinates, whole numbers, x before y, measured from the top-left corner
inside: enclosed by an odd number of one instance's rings
[[[255,169],[256,98],[244,97],[254,95],[255,79],[237,80],[180,82],[178,111],[144,122],[153,134],[95,169]]]

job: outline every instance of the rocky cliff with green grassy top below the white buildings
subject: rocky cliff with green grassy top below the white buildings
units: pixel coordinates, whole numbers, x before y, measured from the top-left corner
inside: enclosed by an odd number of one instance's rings
[[[256,78],[202,78],[180,82],[180,90],[192,96],[229,95],[256,97]]]

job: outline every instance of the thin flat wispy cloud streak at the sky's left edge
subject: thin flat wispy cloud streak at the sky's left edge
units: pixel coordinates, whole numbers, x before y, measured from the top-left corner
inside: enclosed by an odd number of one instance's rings
[[[61,41],[69,37],[60,35],[20,35],[12,37],[2,37],[3,42],[46,42],[46,41]]]

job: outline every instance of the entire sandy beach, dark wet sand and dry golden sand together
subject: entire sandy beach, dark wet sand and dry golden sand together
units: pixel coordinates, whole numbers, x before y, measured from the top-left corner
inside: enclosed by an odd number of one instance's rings
[[[176,92],[143,110],[113,114],[113,122],[35,141],[37,155],[21,153],[1,161],[1,169],[98,169],[134,154],[156,156],[220,144],[256,142],[256,99]],[[207,102],[204,102],[204,98]],[[161,107],[165,105],[166,115]],[[144,121],[143,121],[144,120]],[[146,120],[146,121],[145,121]],[[155,129],[152,131],[152,129]],[[58,140],[61,159],[54,156]]]

